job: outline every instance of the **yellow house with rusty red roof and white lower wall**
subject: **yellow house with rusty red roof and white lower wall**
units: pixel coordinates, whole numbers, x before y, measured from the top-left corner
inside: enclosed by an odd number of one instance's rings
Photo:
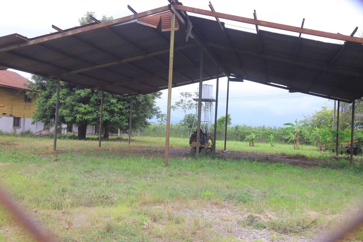
[[[0,130],[20,133],[44,128],[43,122],[32,124],[37,94],[32,98],[25,95],[30,90],[27,83],[28,79],[16,72],[0,70]]]

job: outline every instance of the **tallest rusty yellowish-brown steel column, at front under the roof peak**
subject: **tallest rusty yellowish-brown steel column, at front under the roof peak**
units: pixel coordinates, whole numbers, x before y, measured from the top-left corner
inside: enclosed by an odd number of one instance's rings
[[[168,108],[167,108],[167,115],[166,115],[166,137],[165,137],[164,167],[168,166],[168,161],[169,161],[171,86],[172,86],[172,82],[173,82],[173,60],[174,60],[174,30],[175,30],[175,13],[172,12],[171,13],[171,28],[170,28]]]

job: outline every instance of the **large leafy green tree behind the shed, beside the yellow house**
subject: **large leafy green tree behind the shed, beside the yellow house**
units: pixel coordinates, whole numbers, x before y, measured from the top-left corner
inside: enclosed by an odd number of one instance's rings
[[[79,24],[92,22],[89,15],[95,16],[94,12],[87,12],[79,19]],[[101,21],[113,19],[103,16]],[[57,82],[53,79],[33,75],[30,87],[38,90],[38,108],[33,116],[33,121],[50,123],[55,118],[55,103]],[[138,95],[133,101],[132,128],[145,127],[147,120],[158,114],[159,109],[155,106],[155,99],[160,98],[161,93]],[[101,91],[90,90],[85,87],[61,82],[59,121],[68,125],[78,126],[78,139],[86,138],[87,125],[94,125],[99,120],[99,108]],[[102,123],[104,127],[104,138],[109,137],[110,128],[127,130],[129,126],[130,97],[114,95],[105,92],[103,104]],[[101,132],[101,131],[100,131]]]

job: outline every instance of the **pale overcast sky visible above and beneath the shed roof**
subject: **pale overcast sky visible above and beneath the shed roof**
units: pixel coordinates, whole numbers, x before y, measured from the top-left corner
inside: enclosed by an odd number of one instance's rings
[[[207,0],[183,0],[183,5],[208,9]],[[32,0],[16,1],[1,0],[0,8],[0,36],[19,33],[26,37],[36,37],[54,32],[51,25],[62,29],[78,25],[78,18],[87,11],[93,11],[101,19],[102,15],[114,18],[130,15],[127,9],[130,4],[138,12],[146,11],[163,5],[167,0],[123,1],[123,0]],[[213,0],[213,7],[217,12],[253,18],[256,9],[258,19],[281,24],[301,26],[305,18],[305,28],[317,29],[332,33],[350,35],[356,26],[361,33],[363,27],[363,2],[361,0],[285,0],[285,1],[258,1],[258,0]],[[208,17],[208,16],[207,16]],[[253,25],[222,20],[228,28],[256,32]],[[233,26],[234,25],[234,26]],[[260,29],[291,34],[297,33],[284,30],[260,27]],[[326,42],[339,43],[339,41],[308,36]],[[30,74],[20,72],[26,78]],[[213,85],[215,80],[204,82]],[[184,91],[197,91],[198,84],[187,85],[172,89],[172,104],[179,99],[179,93]],[[215,96],[215,94],[213,94]],[[218,117],[225,115],[225,99],[227,96],[227,78],[220,79]],[[303,115],[310,115],[322,106],[332,107],[333,102],[305,94],[291,93],[287,90],[269,87],[249,81],[243,83],[230,83],[229,108],[232,124],[248,124],[252,126],[270,125],[282,126],[283,123],[293,122],[295,118],[301,119]],[[157,102],[161,110],[166,113],[167,91],[163,91],[162,98]],[[182,119],[183,114],[172,111],[171,122]]]

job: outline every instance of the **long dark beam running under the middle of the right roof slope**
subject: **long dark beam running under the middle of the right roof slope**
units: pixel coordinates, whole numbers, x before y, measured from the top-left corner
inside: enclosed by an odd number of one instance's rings
[[[234,47],[215,44],[215,43],[211,43],[211,42],[205,42],[205,44],[207,46],[211,46],[211,47],[215,47],[215,48],[219,48],[219,49],[224,49],[224,50],[229,50],[229,51],[236,51],[236,52],[240,52],[240,53],[244,53],[244,54],[249,54],[251,56],[264,57],[264,58],[270,59],[270,60],[276,60],[276,61],[281,61],[281,62],[286,62],[286,63],[293,63],[294,65],[305,66],[305,67],[309,67],[309,68],[313,68],[313,69],[326,70],[326,71],[329,71],[329,72],[332,72],[332,73],[351,75],[351,76],[354,76],[354,77],[363,76],[363,73],[359,73],[359,72],[356,72],[354,70],[347,70],[347,69],[341,69],[341,68],[337,68],[337,67],[330,67],[330,66],[327,66],[327,65],[325,65],[323,63],[316,63],[316,62],[312,63],[312,62],[302,61],[302,60],[298,60],[296,58],[291,58],[291,57],[274,56],[274,55],[271,55],[271,54],[258,53],[258,52],[254,52],[254,51],[251,51],[251,50],[234,48]]]

